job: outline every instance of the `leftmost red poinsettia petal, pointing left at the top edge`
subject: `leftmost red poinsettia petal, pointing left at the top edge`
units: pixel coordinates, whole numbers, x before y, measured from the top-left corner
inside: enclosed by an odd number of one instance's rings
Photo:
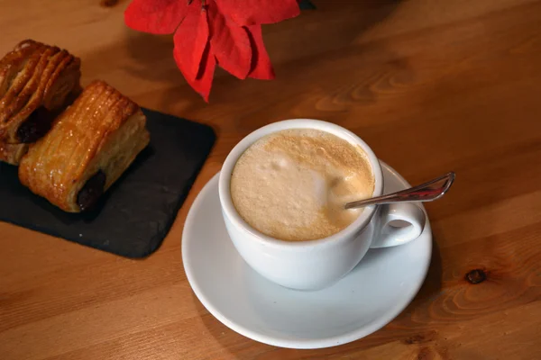
[[[124,12],[124,23],[137,31],[170,34],[187,10],[188,0],[133,0]]]

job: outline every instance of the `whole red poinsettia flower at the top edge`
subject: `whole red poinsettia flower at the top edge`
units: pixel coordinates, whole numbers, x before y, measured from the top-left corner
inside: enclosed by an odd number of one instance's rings
[[[297,0],[133,0],[124,21],[137,31],[175,33],[175,61],[208,101],[216,65],[241,79],[274,78],[261,24],[298,14]]]

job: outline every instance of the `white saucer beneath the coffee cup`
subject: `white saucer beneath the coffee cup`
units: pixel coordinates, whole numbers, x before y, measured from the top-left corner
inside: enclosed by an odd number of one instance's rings
[[[408,187],[381,163],[385,193]],[[197,298],[217,320],[247,338],[277,347],[334,347],[381,329],[411,302],[432,253],[430,223],[420,238],[371,249],[337,284],[299,292],[255,273],[225,230],[216,174],[197,195],[182,234],[182,260]]]

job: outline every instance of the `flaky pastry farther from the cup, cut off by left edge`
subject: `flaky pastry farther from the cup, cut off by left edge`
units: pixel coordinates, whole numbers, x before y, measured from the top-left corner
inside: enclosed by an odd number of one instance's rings
[[[30,143],[79,88],[80,60],[67,50],[23,40],[0,59],[0,141]]]

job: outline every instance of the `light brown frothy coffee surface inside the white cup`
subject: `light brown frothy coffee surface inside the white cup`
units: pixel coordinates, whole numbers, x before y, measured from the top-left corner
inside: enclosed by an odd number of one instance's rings
[[[243,220],[286,241],[326,238],[362,209],[344,203],[371,197],[374,176],[362,148],[329,132],[281,130],[247,148],[231,176],[231,197]]]

